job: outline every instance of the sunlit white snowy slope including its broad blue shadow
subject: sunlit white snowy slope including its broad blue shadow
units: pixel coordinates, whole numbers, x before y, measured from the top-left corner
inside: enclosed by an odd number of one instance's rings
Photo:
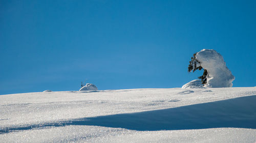
[[[256,88],[0,95],[0,142],[255,142]]]

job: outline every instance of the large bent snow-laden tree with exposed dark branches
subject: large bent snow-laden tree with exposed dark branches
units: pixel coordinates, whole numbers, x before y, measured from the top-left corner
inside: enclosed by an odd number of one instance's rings
[[[188,72],[204,69],[201,79],[204,87],[229,88],[232,87],[234,76],[227,68],[220,53],[213,49],[203,49],[194,54],[188,65]]]

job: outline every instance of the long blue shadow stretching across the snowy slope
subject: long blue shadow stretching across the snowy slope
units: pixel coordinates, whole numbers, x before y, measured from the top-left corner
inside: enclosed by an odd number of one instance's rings
[[[137,131],[207,128],[256,129],[256,95],[176,108],[82,118],[58,123],[0,129],[0,133],[46,126],[90,125]]]

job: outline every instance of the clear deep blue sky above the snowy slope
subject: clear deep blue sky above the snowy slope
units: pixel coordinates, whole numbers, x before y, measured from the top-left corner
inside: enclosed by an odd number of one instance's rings
[[[215,49],[256,86],[256,1],[0,1],[0,94],[177,88]]]

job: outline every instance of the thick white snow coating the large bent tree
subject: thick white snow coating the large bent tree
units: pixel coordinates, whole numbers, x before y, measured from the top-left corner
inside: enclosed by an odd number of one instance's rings
[[[206,87],[230,88],[232,87],[234,76],[227,68],[226,63],[220,53],[213,49],[203,49],[196,54],[196,59],[200,65],[207,70]]]

